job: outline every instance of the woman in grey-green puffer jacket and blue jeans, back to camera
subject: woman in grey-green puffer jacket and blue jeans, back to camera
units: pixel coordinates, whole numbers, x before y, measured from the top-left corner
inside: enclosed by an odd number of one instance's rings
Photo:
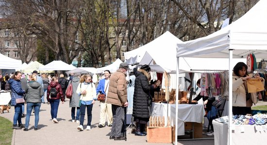
[[[26,97],[25,100],[27,102],[27,115],[26,115],[26,123],[25,129],[23,131],[28,131],[30,116],[34,108],[34,116],[35,116],[35,123],[34,123],[34,131],[37,131],[37,126],[39,122],[39,111],[41,107],[41,98],[44,95],[44,90],[38,82],[36,82],[36,75],[33,74],[31,76],[30,81],[26,87]]]

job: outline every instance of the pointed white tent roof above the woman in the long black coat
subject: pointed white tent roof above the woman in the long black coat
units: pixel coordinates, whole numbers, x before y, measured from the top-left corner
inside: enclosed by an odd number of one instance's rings
[[[151,71],[158,73],[176,72],[176,44],[182,42],[169,31],[144,46],[146,47],[139,65],[148,64]],[[139,48],[138,48],[139,49]]]

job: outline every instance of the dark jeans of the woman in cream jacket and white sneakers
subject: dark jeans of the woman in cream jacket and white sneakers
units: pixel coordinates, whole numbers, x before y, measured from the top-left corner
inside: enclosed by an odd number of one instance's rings
[[[81,106],[80,106],[80,112],[81,112],[80,125],[83,125],[84,116],[85,116],[85,108],[87,108],[87,126],[91,126],[93,104],[90,104],[90,105],[81,104]]]

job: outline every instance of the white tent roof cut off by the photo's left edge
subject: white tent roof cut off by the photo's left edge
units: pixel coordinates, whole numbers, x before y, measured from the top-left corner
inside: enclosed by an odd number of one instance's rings
[[[21,60],[9,58],[5,55],[0,54],[0,69],[20,69],[22,62]]]

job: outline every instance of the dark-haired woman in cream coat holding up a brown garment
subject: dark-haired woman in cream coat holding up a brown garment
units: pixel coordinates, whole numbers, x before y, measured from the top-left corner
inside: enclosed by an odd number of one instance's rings
[[[246,99],[247,80],[259,76],[248,74],[248,66],[244,62],[238,62],[233,71],[233,115],[251,114],[252,103],[257,103],[257,93],[250,93],[250,99]],[[259,77],[260,80],[264,80]],[[262,81],[264,83],[264,81]]]

